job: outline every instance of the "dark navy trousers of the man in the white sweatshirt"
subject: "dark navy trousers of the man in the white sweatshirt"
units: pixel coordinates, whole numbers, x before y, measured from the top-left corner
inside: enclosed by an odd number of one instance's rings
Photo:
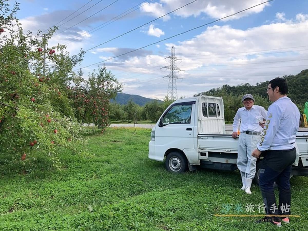
[[[265,212],[270,215],[290,215],[290,174],[296,158],[295,148],[291,150],[266,151],[260,168],[260,189]],[[274,183],[278,185],[279,205],[276,204]],[[278,219],[276,217],[276,219]],[[278,219],[279,220],[279,219]]]

